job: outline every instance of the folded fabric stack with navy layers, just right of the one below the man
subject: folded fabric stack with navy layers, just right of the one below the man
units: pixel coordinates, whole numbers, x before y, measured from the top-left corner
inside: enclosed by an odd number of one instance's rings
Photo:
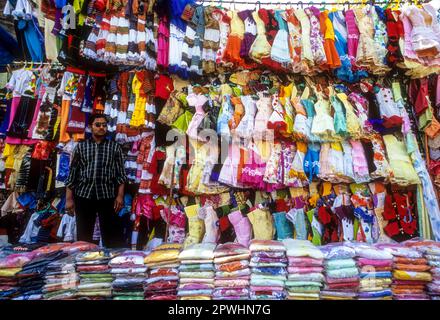
[[[125,251],[109,262],[113,300],[144,300],[147,267],[143,251]]]

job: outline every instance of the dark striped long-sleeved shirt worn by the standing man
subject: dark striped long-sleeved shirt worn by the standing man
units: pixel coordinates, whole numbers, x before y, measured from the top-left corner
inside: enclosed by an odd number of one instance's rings
[[[73,151],[66,187],[79,197],[111,199],[116,188],[127,181],[122,149],[114,141],[96,143],[89,139]]]

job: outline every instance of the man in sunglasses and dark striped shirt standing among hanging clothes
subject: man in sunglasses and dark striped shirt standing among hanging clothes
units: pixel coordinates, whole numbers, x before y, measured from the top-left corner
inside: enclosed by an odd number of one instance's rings
[[[96,214],[103,246],[124,247],[122,224],[117,213],[124,205],[127,180],[121,147],[105,138],[107,119],[93,114],[89,119],[92,138],[73,151],[66,181],[66,212],[76,215],[78,240],[92,242]]]

